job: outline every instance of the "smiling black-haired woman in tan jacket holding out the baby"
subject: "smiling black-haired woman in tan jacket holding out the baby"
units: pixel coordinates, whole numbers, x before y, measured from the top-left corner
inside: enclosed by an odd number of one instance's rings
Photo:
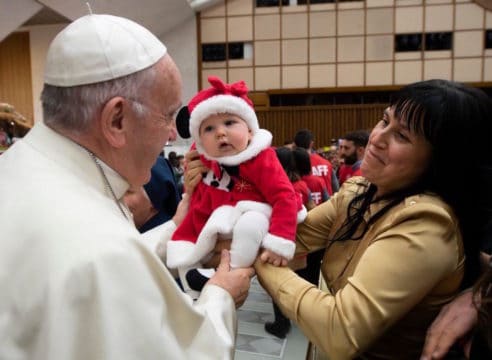
[[[439,310],[476,281],[492,218],[491,111],[485,93],[459,83],[403,87],[371,132],[364,178],[347,180],[298,226],[299,251],[327,248],[326,287],[260,255],[261,285],[316,354],[419,358]],[[469,160],[458,172],[456,144]],[[469,174],[483,186],[470,188]]]

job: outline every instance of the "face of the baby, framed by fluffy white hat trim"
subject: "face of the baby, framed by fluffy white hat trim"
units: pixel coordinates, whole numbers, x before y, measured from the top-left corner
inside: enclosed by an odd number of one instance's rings
[[[233,114],[214,114],[200,125],[200,141],[211,157],[239,154],[248,147],[251,130],[246,122]]]

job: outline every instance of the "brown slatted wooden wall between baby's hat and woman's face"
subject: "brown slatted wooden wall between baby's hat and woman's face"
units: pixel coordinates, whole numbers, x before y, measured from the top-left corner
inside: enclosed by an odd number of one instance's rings
[[[257,110],[260,127],[273,134],[273,145],[292,140],[300,129],[314,134],[315,147],[327,146],[332,138],[349,131],[371,130],[381,119],[387,104],[279,107]]]

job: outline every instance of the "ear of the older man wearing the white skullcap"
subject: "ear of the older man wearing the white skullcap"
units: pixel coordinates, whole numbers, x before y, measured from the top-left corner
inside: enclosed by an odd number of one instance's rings
[[[128,125],[127,109],[126,100],[117,96],[104,104],[101,111],[102,133],[108,143],[115,148],[121,148],[126,144],[128,135],[128,129],[125,128]]]

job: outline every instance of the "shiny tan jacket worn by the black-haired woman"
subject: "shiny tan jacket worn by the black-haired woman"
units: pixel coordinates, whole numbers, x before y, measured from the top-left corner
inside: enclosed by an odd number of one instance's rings
[[[389,210],[361,240],[330,244],[348,203],[367,186],[348,180],[298,227],[299,252],[328,246],[321,272],[329,291],[259,262],[258,278],[330,360],[418,359],[428,326],[463,277],[457,219],[437,196],[421,194]],[[372,204],[366,221],[384,205]]]

